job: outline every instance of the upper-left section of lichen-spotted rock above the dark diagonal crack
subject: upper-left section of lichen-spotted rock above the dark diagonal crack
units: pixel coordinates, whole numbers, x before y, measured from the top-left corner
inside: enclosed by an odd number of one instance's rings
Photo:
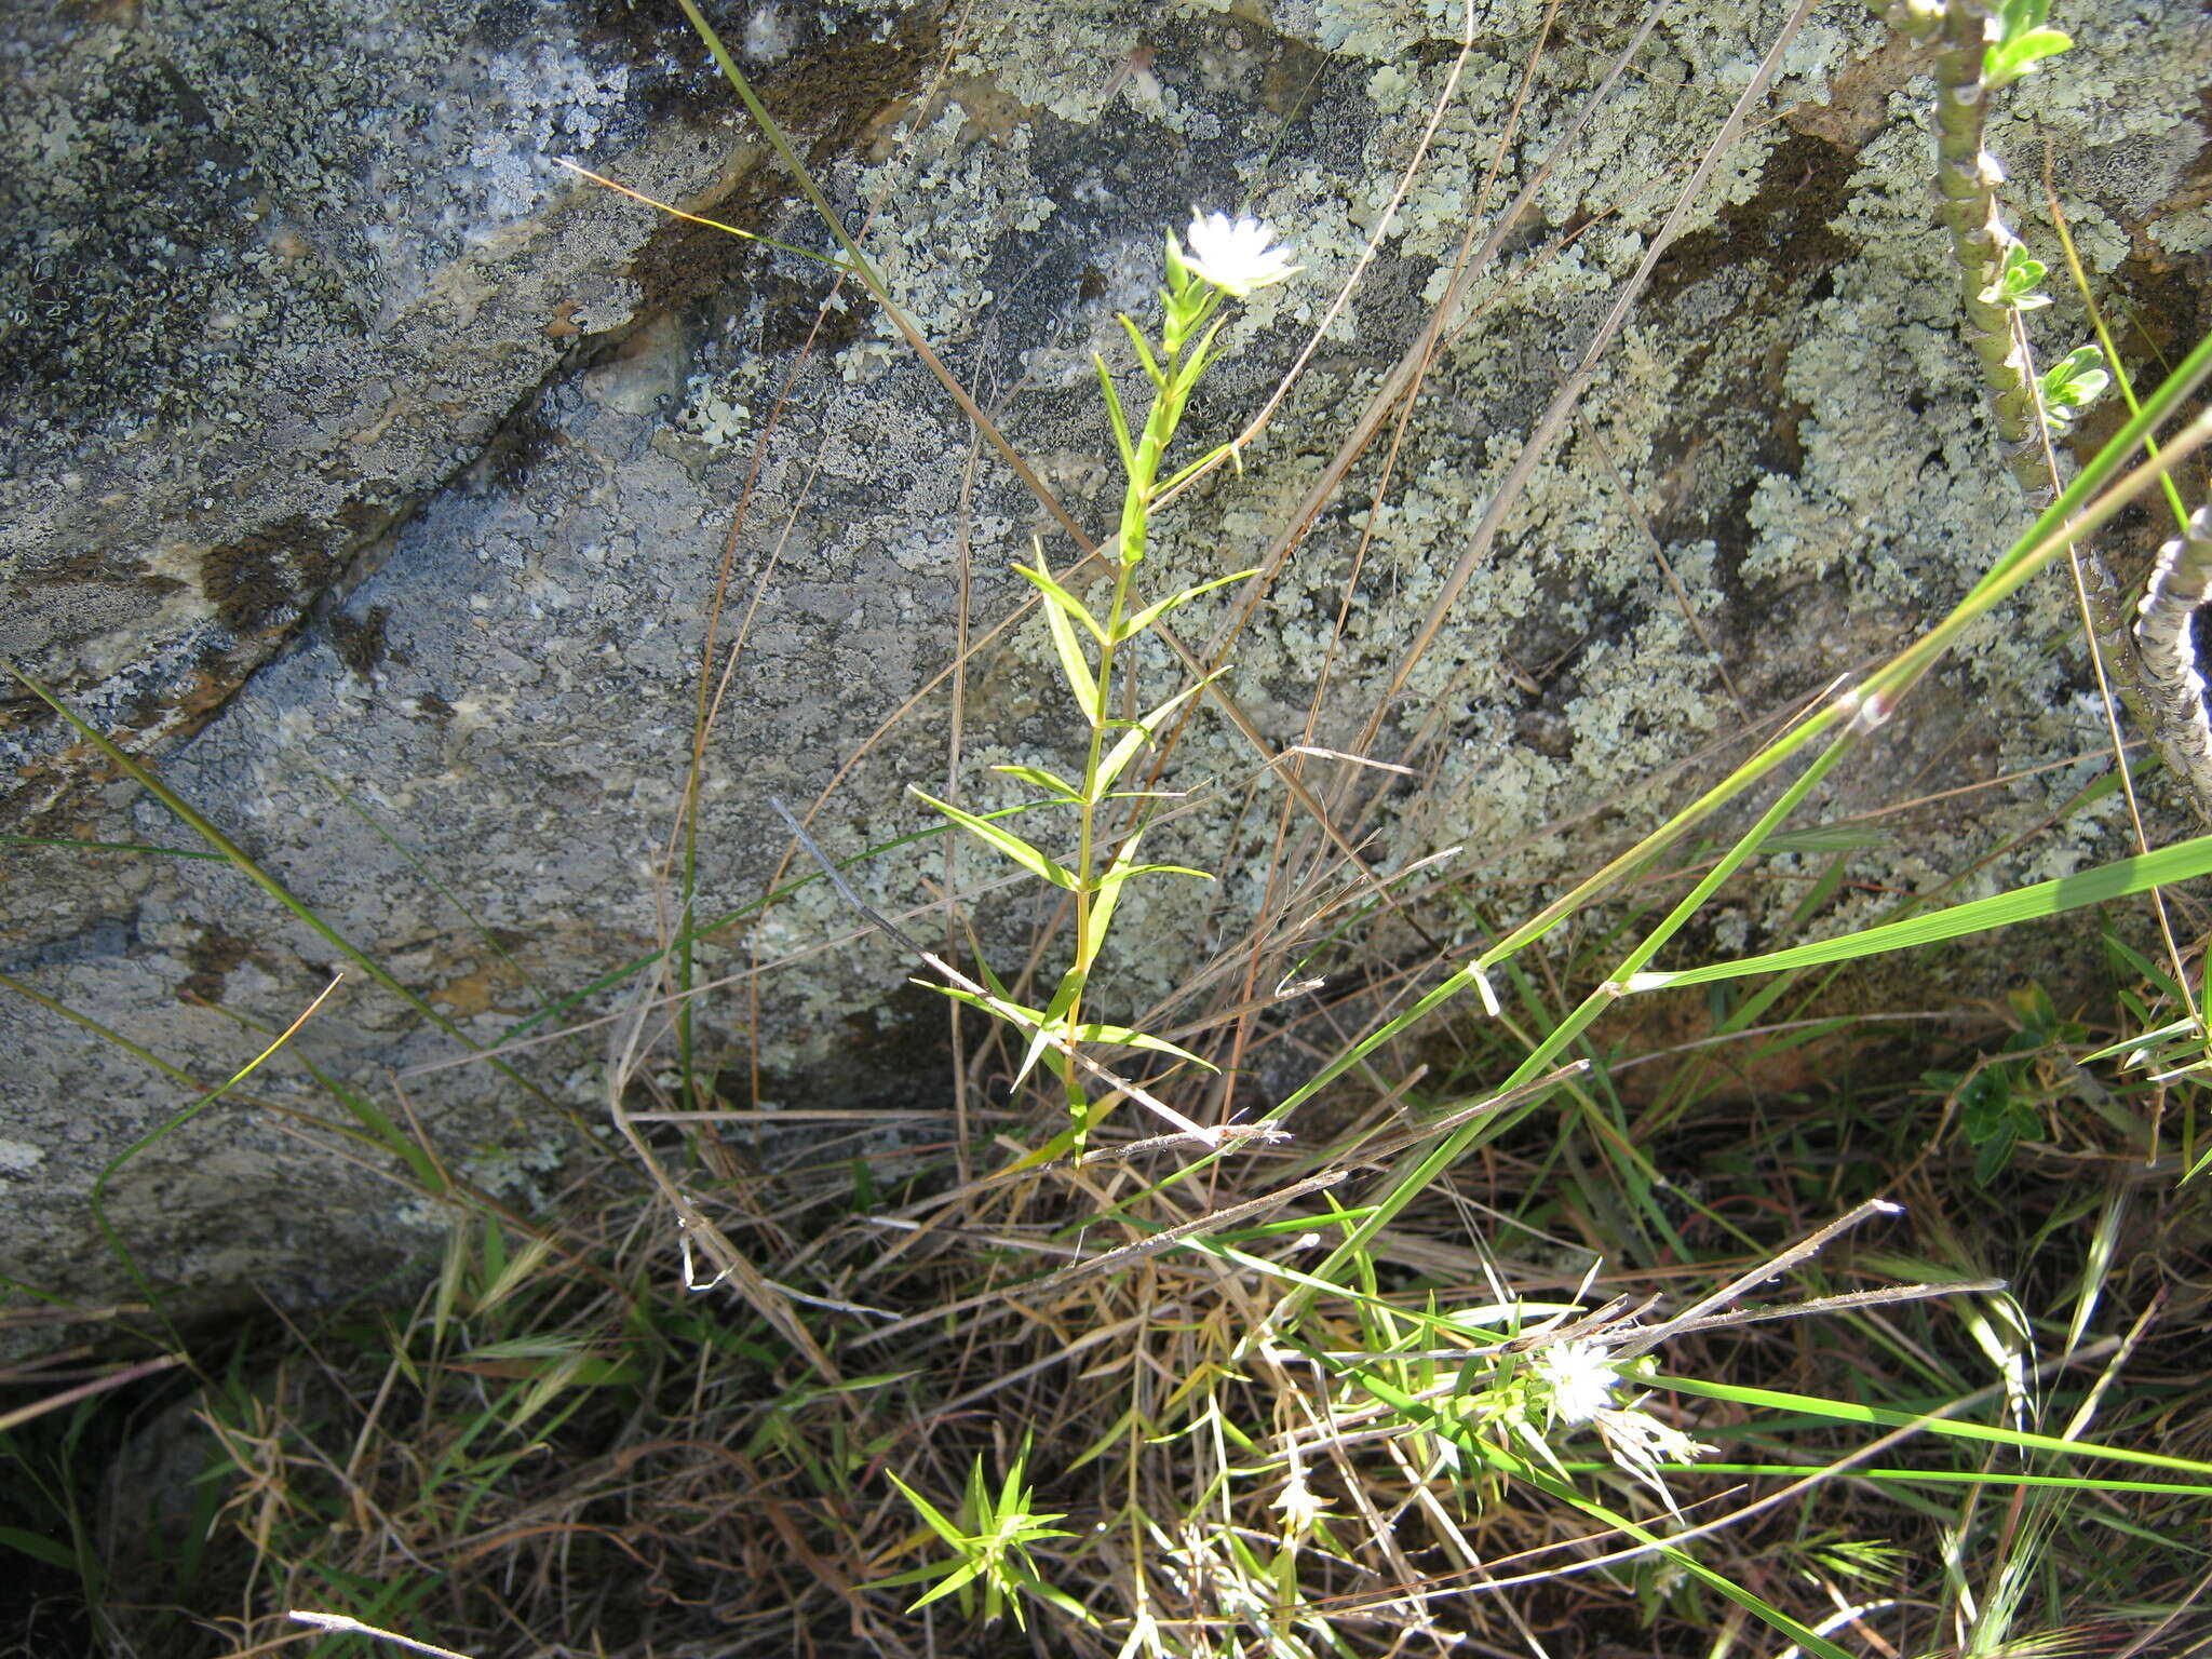
[[[0,648],[150,750],[498,465],[648,281],[666,303],[650,219],[562,161],[679,204],[752,161],[697,42],[626,0],[11,11]],[[914,44],[887,7],[825,15],[821,62],[781,58],[880,106]],[[872,113],[832,111],[801,115]],[[66,816],[51,717],[20,686],[0,714],[7,816]]]

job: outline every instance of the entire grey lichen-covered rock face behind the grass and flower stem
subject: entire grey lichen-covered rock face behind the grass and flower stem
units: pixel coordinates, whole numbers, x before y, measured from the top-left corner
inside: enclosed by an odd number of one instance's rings
[[[900,710],[951,664],[962,588],[982,633],[1020,604],[1009,566],[1033,535],[1055,564],[1073,549],[989,451],[962,489],[967,422],[856,288],[553,166],[575,157],[832,252],[672,9],[18,11],[0,126],[22,192],[0,230],[0,648],[128,734],[451,1026],[352,973],[241,1097],[131,1157],[106,1217],[155,1281],[204,1305],[248,1283],[321,1296],[442,1223],[389,1159],[345,1139],[358,1121],[310,1062],[396,1121],[414,1113],[442,1157],[520,1203],[586,1133],[566,1117],[602,1108],[602,1029],[518,1055],[535,1093],[442,1062],[465,1053],[453,1031],[491,1044],[661,938],[726,546],[719,637],[741,630],[743,648],[701,796],[703,914],[776,878],[787,843],[770,796],[823,799],[816,830],[836,852],[927,827],[905,787],[945,787],[949,692]],[[1223,684],[1272,750],[1305,737],[1325,666],[1312,741],[1358,739],[1785,11],[1668,13],[1478,279],[1380,504],[1371,451],[1232,650]],[[1192,445],[1217,442],[1265,403],[1383,226],[1460,35],[1458,7],[1422,0],[1024,2],[960,31],[920,4],[714,15],[847,223],[869,226],[900,305],[1093,533],[1117,491],[1091,352],[1126,367],[1113,312],[1148,312],[1161,230],[1192,204],[1250,204],[1307,265],[1230,325],[1192,414]],[[1460,100],[1374,263],[1243,473],[1164,524],[1157,591],[1265,551],[1418,338],[1542,7],[1475,18]],[[1632,24],[1630,7],[1577,9],[1573,38],[1548,46],[1493,208]],[[2024,177],[2053,146],[2093,274],[2161,349],[2185,349],[2212,243],[2208,31],[2190,4],[2139,4],[2079,35],[2006,95],[1993,142]],[[1798,35],[1770,115],[1387,710],[1378,750],[1429,783],[1376,801],[1369,856],[1394,869],[1464,847],[1460,909],[1440,907],[1433,929],[1473,927],[1482,898],[1528,909],[1588,845],[1657,816],[1666,785],[1639,794],[1648,779],[1902,644],[2022,522],[1953,334],[1924,93],[1858,7],[1825,7]],[[2031,243],[2048,243],[2033,192],[2015,204]],[[2037,327],[2064,349],[2081,323],[2062,301]],[[2068,604],[2051,584],[1980,628],[1832,805],[2024,776],[1909,816],[1856,876],[1933,880],[2095,772],[2101,712],[2066,646]],[[1203,644],[1230,615],[1194,606],[1179,628]],[[1146,672],[1168,686],[1164,657]],[[27,697],[4,714],[20,834],[195,845]],[[1018,628],[969,668],[958,787],[1000,805],[991,763],[1055,765],[1066,745],[1042,641]],[[2086,759],[2028,774],[2068,757]],[[1203,984],[1248,929],[1281,807],[1261,761],[1219,714],[1181,743],[1179,783],[1203,794],[1157,856],[1225,878],[1199,902],[1126,902],[1126,1004]],[[1323,763],[1307,779],[1334,783]],[[1559,821],[1575,832],[1553,834]],[[2110,827],[2075,816],[1986,883],[2070,869],[2108,849]],[[0,1219],[0,1272],[111,1294],[124,1274],[88,1212],[95,1179],[195,1084],[257,1053],[341,951],[219,863],[0,858],[0,967],[49,1000],[0,998],[0,1183],[20,1199]],[[960,856],[964,891],[1000,874]],[[891,911],[927,905],[942,876],[938,843],[856,872]],[[1765,938],[1801,887],[1767,891],[1721,918],[1723,947]],[[978,902],[991,940],[1035,920],[1024,894]],[[1878,905],[1845,898],[1820,925]],[[779,964],[703,1002],[701,1040],[737,1071],[759,1053],[785,1104],[927,1099],[942,1013],[854,927],[810,887],[701,947],[708,973]]]

